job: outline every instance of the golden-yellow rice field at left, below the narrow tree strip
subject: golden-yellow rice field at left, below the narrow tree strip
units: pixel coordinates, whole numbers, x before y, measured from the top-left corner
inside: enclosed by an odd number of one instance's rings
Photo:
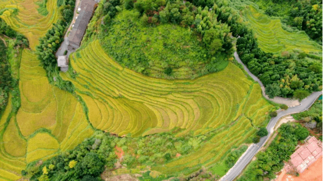
[[[11,113],[11,96],[0,120],[0,180],[16,180],[26,165],[74,148],[93,134],[76,98],[49,84],[30,50],[19,70],[21,107]]]

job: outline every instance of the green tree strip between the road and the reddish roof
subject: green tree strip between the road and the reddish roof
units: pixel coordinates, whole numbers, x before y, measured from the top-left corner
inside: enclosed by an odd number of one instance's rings
[[[290,159],[297,142],[309,135],[306,128],[298,123],[285,123],[278,129],[278,135],[264,152],[257,154],[238,181],[261,181],[276,177],[276,172],[284,167],[284,161]]]

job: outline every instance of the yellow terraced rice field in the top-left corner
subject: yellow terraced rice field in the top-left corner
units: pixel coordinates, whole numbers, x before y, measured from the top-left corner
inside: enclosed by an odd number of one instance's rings
[[[0,18],[10,25],[12,29],[24,34],[29,40],[32,49],[35,49],[38,39],[43,37],[59,18],[56,0],[47,1],[48,14],[46,16],[38,13],[39,6],[36,2],[33,0],[0,1],[0,9],[8,8],[0,15]],[[17,15],[13,14],[12,8],[18,9]]]

